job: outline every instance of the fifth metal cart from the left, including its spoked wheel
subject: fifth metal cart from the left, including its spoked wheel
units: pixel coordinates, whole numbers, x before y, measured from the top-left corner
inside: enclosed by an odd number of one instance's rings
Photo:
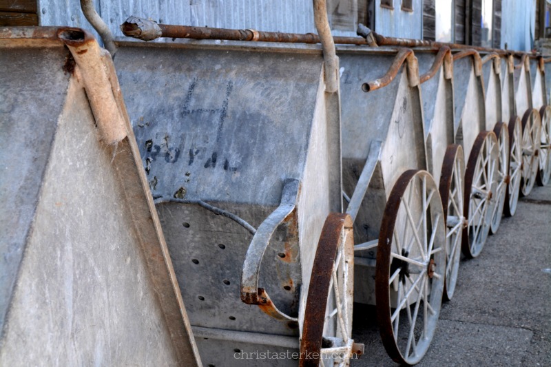
[[[462,251],[468,258],[479,255],[486,243],[497,189],[499,149],[494,132],[486,131],[486,98],[482,61],[477,51],[453,55],[455,139],[465,152],[464,229]]]

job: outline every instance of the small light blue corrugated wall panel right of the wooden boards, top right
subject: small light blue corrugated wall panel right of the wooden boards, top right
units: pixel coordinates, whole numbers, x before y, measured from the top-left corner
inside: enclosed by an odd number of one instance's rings
[[[403,0],[393,0],[393,10],[375,3],[375,32],[384,36],[423,38],[423,0],[413,0],[413,12],[402,10]]]

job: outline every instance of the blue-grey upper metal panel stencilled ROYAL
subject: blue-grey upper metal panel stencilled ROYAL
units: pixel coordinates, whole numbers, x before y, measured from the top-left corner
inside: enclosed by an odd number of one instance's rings
[[[302,176],[321,63],[321,54],[121,47],[118,78],[154,198],[183,188],[176,196],[279,205],[283,178]]]

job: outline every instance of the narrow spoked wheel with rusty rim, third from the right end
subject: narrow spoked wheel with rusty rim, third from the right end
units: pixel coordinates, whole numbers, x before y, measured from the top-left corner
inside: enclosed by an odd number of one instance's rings
[[[505,205],[503,213],[514,216],[519,202],[522,173],[522,123],[519,116],[509,120],[509,173],[507,190],[505,191]]]

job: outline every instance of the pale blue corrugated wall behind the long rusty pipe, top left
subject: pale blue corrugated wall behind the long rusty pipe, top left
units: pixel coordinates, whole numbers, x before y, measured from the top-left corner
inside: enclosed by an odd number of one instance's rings
[[[334,0],[333,3],[338,1],[349,0]],[[39,4],[41,25],[92,29],[82,14],[79,1],[39,0]],[[315,32],[311,0],[96,0],[94,5],[116,38],[123,37],[119,25],[130,15],[151,18],[164,24]],[[353,36],[355,25],[349,31],[338,30],[334,34]]]

